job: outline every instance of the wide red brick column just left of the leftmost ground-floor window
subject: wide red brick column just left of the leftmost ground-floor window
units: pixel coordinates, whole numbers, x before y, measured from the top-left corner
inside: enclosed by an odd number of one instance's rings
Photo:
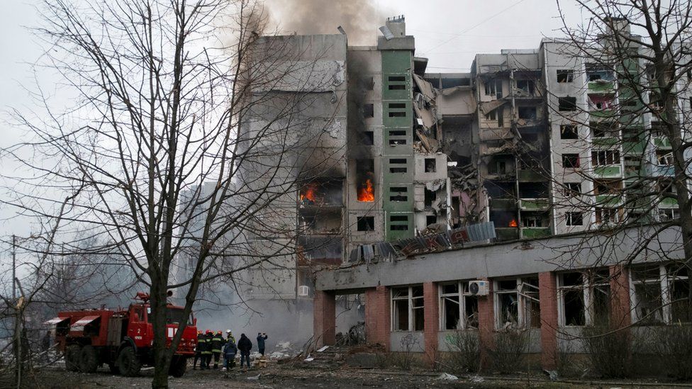
[[[391,309],[389,290],[385,286],[365,291],[365,336],[368,344],[381,344],[389,351]]]

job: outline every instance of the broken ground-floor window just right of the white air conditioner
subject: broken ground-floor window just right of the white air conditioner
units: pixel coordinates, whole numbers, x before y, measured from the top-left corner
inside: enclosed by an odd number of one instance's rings
[[[538,278],[495,281],[496,329],[540,327]]]

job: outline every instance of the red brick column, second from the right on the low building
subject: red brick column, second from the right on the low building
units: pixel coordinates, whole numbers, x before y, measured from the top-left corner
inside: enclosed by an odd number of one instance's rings
[[[541,309],[541,365],[557,368],[557,280],[549,271],[538,274],[538,298]]]

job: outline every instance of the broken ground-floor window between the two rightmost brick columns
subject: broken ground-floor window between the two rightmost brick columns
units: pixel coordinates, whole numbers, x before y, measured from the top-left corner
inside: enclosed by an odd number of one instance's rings
[[[608,269],[559,274],[557,298],[559,325],[598,325],[610,317]]]

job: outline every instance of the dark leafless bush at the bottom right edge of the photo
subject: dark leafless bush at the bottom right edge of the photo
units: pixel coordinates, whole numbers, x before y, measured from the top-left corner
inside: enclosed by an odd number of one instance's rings
[[[692,379],[692,326],[679,324],[657,328],[653,346],[668,376]]]

